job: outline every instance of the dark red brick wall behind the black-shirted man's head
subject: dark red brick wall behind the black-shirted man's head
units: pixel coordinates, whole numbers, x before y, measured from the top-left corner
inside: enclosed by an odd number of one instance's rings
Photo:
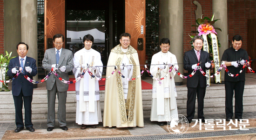
[[[247,20],[256,18],[255,0],[228,0],[229,40],[236,34],[243,37],[242,48],[247,50]]]

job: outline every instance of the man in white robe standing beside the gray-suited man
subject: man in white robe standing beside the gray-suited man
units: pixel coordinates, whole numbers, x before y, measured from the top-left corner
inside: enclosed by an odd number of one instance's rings
[[[90,34],[83,38],[84,48],[74,53],[74,75],[78,78],[83,70],[89,67],[90,72],[97,78],[101,78],[102,62],[101,54],[92,49],[94,37]],[[81,80],[75,83],[76,93],[76,123],[81,129],[87,125],[96,128],[95,125],[102,121],[100,106],[99,81],[90,76],[88,71]]]

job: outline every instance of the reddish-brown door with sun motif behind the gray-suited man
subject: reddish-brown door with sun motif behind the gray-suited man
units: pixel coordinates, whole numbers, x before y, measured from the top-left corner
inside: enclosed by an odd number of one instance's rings
[[[65,0],[46,0],[45,2],[45,50],[54,47],[54,34],[65,32]],[[65,42],[65,40],[64,40]],[[65,48],[65,43],[62,46]]]

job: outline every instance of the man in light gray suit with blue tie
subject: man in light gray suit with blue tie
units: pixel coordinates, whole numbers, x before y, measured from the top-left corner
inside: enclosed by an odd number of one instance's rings
[[[56,73],[64,80],[68,80],[68,72],[74,68],[73,54],[70,50],[62,48],[64,36],[55,34],[53,37],[54,47],[47,49],[42,61],[42,67],[48,72],[54,67]],[[67,130],[66,122],[66,100],[68,84],[59,80],[56,75],[51,74],[46,81],[48,98],[47,131],[52,131],[55,124],[55,99],[58,95],[58,122],[62,130]]]

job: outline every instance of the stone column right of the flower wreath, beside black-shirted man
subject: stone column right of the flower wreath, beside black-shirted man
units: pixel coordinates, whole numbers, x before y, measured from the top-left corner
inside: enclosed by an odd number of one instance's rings
[[[212,0],[212,11],[215,13],[214,19],[220,19],[214,23],[214,27],[222,29],[222,32],[216,30],[218,39],[221,42],[221,47],[219,47],[220,60],[222,59],[223,52],[229,47],[227,8],[227,0]],[[224,81],[224,68],[221,71],[221,80]]]

